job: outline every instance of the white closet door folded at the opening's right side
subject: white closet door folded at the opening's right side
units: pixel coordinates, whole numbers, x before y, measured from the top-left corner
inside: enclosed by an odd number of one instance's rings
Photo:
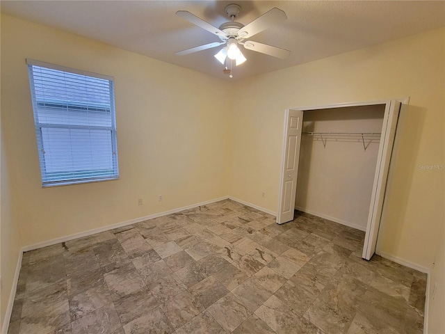
[[[380,146],[378,150],[377,167],[375,168],[373,193],[371,196],[371,205],[369,207],[368,224],[366,225],[364,239],[362,257],[366,260],[371,260],[371,257],[375,253],[380,218],[382,217],[383,200],[385,198],[385,190],[387,186],[389,161],[391,160],[400,109],[401,103],[397,101],[389,102],[385,109],[382,136],[380,137]]]

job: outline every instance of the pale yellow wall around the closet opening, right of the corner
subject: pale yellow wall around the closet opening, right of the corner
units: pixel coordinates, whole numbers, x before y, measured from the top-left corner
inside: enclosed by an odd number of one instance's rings
[[[430,267],[431,241],[444,223],[445,171],[419,164],[444,164],[444,49],[445,29],[438,29],[236,82],[229,193],[277,210],[284,109],[410,96],[378,251]]]

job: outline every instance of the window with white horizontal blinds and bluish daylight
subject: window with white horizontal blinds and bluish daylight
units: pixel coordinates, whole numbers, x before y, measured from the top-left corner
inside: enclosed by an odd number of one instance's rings
[[[26,63],[43,186],[118,179],[113,77]]]

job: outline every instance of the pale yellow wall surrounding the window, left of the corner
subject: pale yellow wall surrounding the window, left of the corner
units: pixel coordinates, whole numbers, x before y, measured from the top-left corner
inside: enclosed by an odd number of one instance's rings
[[[120,180],[42,189],[26,58],[115,77]],[[1,65],[25,245],[227,196],[227,82],[8,15]]]

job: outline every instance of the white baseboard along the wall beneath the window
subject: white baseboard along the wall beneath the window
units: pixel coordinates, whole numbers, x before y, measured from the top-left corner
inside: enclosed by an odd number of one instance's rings
[[[73,240],[73,239],[78,239],[78,238],[81,238],[81,237],[87,237],[88,235],[91,235],[91,234],[105,232],[105,231],[108,231],[108,230],[113,230],[115,228],[122,228],[123,226],[131,225],[131,224],[134,224],[134,223],[139,223],[140,221],[147,221],[148,219],[158,218],[158,217],[161,217],[161,216],[166,216],[168,214],[175,214],[175,213],[180,212],[180,211],[193,209],[194,207],[200,207],[201,205],[207,205],[207,204],[210,204],[210,203],[213,203],[213,202],[218,202],[220,200],[227,200],[227,198],[229,198],[229,196],[224,196],[224,197],[220,197],[220,198],[214,198],[213,200],[206,200],[205,202],[200,202],[200,203],[196,203],[196,204],[193,204],[193,205],[187,205],[186,207],[178,207],[177,209],[172,209],[172,210],[168,210],[168,211],[164,211],[164,212],[159,212],[157,214],[150,214],[149,216],[143,216],[143,217],[139,217],[139,218],[134,218],[134,219],[130,219],[129,221],[122,221],[121,223],[115,223],[113,225],[106,225],[106,226],[104,226],[102,228],[94,228],[92,230],[79,232],[79,233],[74,233],[74,234],[70,234],[70,235],[65,235],[64,237],[58,237],[56,239],[51,239],[51,240],[47,240],[47,241],[38,242],[37,244],[24,246],[23,251],[24,252],[28,252],[29,250],[35,250],[35,249],[42,248],[42,247],[47,247],[47,246],[52,246],[52,245],[55,245],[55,244],[60,244],[60,242],[66,242],[66,241],[70,241],[70,240]]]

